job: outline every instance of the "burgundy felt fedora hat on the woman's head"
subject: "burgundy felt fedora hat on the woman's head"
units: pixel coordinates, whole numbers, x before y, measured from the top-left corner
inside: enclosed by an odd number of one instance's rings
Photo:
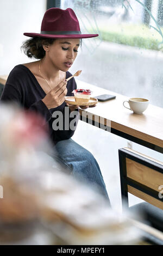
[[[41,32],[24,33],[24,35],[34,38],[93,38],[98,34],[82,34],[79,21],[71,8],[62,10],[60,8],[50,8],[43,16]]]

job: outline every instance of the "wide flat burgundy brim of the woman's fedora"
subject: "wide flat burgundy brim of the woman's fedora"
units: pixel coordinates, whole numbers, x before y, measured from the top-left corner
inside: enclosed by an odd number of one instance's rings
[[[38,34],[38,33],[24,33],[23,35],[29,36],[30,38],[95,38],[98,34],[77,34],[77,35],[49,35],[49,34]]]

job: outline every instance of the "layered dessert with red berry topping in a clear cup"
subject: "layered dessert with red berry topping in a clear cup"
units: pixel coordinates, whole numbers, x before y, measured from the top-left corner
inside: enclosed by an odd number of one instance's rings
[[[76,89],[72,92],[74,94],[77,104],[87,103],[90,100],[91,90],[89,89]]]

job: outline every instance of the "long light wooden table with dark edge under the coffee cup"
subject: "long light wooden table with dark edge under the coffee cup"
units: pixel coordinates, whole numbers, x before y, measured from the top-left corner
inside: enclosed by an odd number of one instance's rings
[[[88,117],[83,119],[86,123],[90,123],[89,119],[92,119],[92,125],[109,124],[111,133],[163,153],[163,108],[149,104],[143,114],[134,114],[123,107],[123,101],[128,100],[129,97],[76,81],[78,88],[91,89],[92,97],[101,94],[116,95],[116,99],[98,102],[94,108],[87,108],[85,111],[80,109],[80,120],[82,120],[82,112],[86,112]],[[101,117],[104,120],[102,122]],[[99,119],[98,122],[97,119]]]

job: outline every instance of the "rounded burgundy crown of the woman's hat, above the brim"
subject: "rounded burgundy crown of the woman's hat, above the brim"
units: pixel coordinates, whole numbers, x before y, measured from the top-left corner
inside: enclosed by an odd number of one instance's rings
[[[80,31],[80,26],[71,8],[50,8],[43,16],[41,31]]]

